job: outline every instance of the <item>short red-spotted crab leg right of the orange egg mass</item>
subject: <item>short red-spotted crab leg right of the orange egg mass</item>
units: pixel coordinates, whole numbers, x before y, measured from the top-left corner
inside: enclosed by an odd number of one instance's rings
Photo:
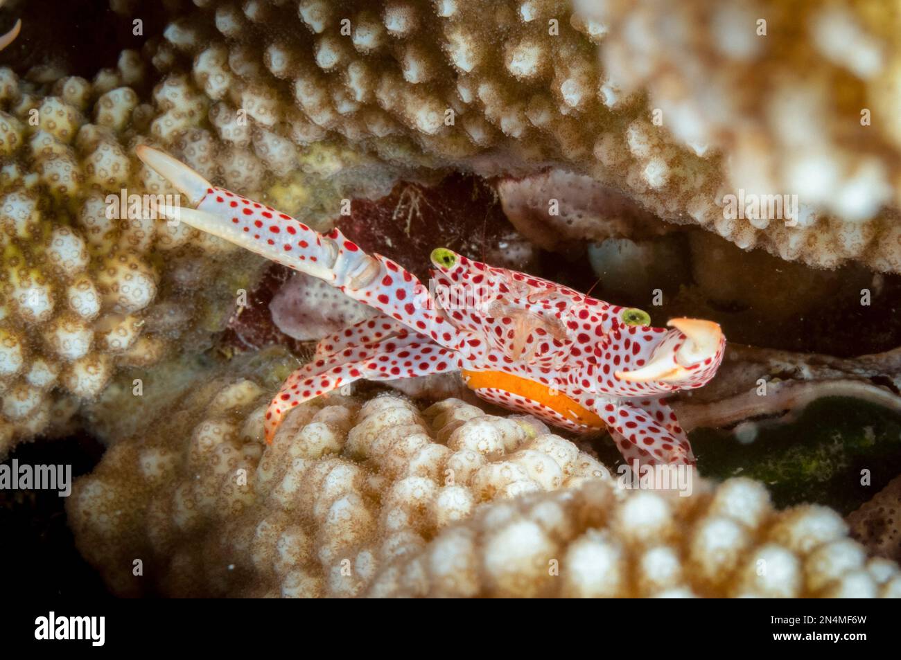
[[[601,411],[607,430],[627,461],[694,465],[685,431],[660,399],[608,404]]]

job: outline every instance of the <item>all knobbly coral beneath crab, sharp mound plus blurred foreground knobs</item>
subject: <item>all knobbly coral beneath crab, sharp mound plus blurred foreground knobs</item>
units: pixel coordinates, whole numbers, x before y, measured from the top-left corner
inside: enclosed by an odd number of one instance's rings
[[[70,524],[114,592],[901,594],[896,565],[868,560],[829,509],[773,511],[747,479],[623,490],[537,420],[459,400],[332,395],[267,447],[248,359],[77,481]]]

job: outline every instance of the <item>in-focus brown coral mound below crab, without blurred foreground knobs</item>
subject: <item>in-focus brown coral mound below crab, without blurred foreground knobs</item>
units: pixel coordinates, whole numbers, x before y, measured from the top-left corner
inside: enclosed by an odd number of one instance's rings
[[[267,447],[267,392],[252,377],[262,359],[198,375],[180,404],[126,392],[105,404],[144,422],[132,437],[119,427],[125,439],[77,481],[67,510],[114,592],[359,594],[481,502],[609,478],[541,422],[452,399],[419,411],[394,394],[333,394],[299,406]]]

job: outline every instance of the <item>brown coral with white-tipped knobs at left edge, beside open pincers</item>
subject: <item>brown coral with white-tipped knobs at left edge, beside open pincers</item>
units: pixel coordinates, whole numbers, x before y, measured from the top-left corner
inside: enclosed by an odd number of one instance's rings
[[[54,413],[96,397],[118,367],[205,340],[259,268],[144,201],[174,190],[134,144],[199,122],[203,97],[170,79],[141,103],[126,86],[145,80],[134,51],[100,78],[36,86],[0,69],[0,457],[52,433]]]

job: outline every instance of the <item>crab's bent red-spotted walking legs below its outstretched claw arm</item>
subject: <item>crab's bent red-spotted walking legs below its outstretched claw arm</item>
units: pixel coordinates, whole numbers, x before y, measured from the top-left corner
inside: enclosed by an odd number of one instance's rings
[[[331,355],[319,355],[317,349],[314,360],[288,376],[269,403],[264,424],[266,441],[272,442],[281,420],[291,408],[360,378],[394,380],[458,368],[459,358],[453,351],[409,330]]]

